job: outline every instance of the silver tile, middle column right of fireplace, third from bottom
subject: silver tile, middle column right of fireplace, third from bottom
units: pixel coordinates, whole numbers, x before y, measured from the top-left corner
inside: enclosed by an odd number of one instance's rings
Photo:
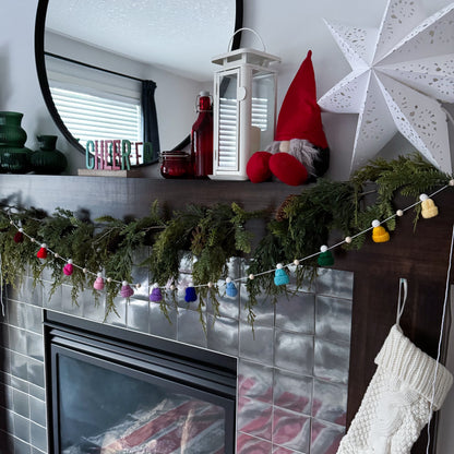
[[[276,368],[312,375],[313,336],[287,333],[276,330],[275,357]]]

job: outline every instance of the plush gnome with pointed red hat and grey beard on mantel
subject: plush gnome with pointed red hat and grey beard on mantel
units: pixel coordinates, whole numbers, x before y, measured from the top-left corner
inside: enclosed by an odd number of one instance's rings
[[[311,56],[309,50],[285,95],[274,142],[248,162],[246,171],[254,183],[274,175],[286,184],[299,186],[314,181],[327,170],[330,148],[316,104]]]

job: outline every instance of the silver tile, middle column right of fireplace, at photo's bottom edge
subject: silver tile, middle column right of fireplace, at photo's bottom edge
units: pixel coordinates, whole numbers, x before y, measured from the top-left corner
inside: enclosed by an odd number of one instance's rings
[[[273,443],[299,452],[309,452],[311,418],[283,408],[273,414]]]

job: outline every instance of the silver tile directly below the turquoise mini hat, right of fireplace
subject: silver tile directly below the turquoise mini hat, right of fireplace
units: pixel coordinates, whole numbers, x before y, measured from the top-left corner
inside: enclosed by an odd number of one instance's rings
[[[276,303],[276,327],[298,333],[314,333],[315,295],[297,292]]]

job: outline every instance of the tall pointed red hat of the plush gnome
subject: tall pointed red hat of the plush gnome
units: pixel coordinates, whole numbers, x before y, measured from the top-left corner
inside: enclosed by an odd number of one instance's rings
[[[309,50],[285,95],[274,140],[301,139],[312,145],[327,148],[321,111],[316,104],[315,75],[311,56],[312,51]]]

